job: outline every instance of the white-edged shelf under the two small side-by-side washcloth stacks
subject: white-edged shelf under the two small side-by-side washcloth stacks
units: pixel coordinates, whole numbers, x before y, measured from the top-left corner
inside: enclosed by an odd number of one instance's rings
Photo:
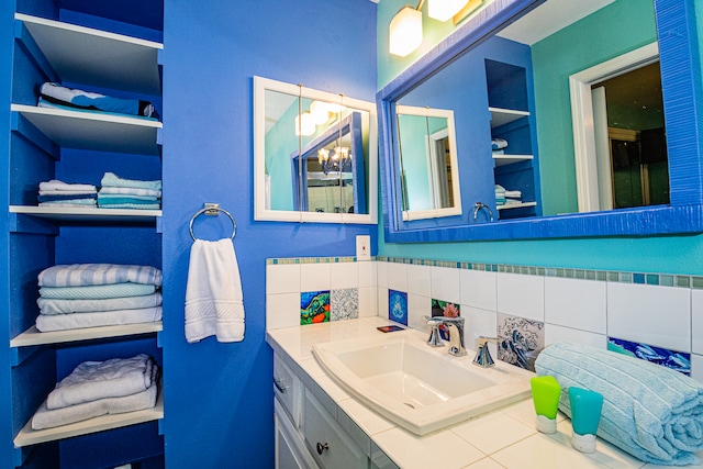
[[[145,222],[161,216],[160,210],[138,209],[72,209],[65,206],[10,205],[10,213],[41,216],[60,221]]]

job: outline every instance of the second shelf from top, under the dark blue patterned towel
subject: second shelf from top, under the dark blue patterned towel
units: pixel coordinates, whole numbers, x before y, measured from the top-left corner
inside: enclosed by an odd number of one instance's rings
[[[60,147],[143,155],[160,153],[157,134],[163,124],[158,121],[25,104],[12,104],[11,110]]]

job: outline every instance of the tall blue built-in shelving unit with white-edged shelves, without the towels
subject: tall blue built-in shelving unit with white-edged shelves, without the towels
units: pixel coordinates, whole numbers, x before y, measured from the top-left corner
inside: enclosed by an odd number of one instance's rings
[[[156,3],[149,0],[152,3]],[[161,179],[161,123],[125,114],[40,108],[38,89],[58,82],[161,109],[159,43],[76,24],[138,27],[26,2],[14,16],[7,246],[8,368],[11,414],[0,455],[13,467],[163,467],[163,390],[155,407],[34,431],[31,420],[56,382],[80,362],[148,354],[161,366],[161,322],[42,333],[37,275],[64,264],[107,263],[161,268],[160,210],[41,206],[42,181],[100,185],[104,172]],[[158,7],[156,7],[158,8]],[[163,4],[160,5],[163,9]],[[32,10],[32,11],[30,11]],[[53,14],[53,15],[52,15]],[[52,18],[45,18],[48,15]],[[67,15],[71,21],[65,21]],[[131,444],[115,444],[131,442]],[[90,448],[90,451],[86,451]]]

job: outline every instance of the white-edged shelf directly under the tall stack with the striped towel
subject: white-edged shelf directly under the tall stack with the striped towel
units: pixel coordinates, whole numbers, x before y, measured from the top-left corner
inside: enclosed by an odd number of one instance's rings
[[[32,326],[10,340],[10,347],[62,344],[66,342],[90,340],[94,338],[121,337],[126,335],[152,334],[164,330],[161,321],[116,326],[86,327],[70,331],[40,332]]]

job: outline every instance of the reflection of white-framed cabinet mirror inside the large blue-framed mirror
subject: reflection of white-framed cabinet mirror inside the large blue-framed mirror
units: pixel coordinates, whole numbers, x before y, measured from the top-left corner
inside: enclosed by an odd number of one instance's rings
[[[461,214],[454,111],[397,105],[403,220]]]

